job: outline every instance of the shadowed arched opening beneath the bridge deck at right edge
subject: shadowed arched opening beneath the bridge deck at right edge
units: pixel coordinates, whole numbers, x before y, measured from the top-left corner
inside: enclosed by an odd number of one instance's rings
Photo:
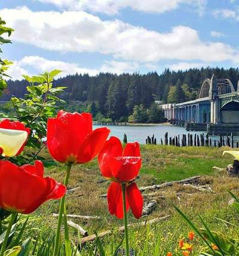
[[[220,109],[220,119],[223,124],[239,123],[239,100],[225,103]]]

